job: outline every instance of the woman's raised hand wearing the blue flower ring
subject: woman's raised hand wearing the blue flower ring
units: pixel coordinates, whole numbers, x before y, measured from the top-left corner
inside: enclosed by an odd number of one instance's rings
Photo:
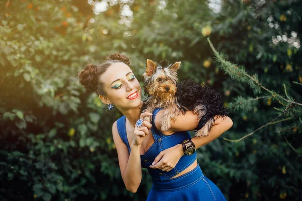
[[[152,113],[144,112],[140,114],[140,119],[143,119],[146,116],[151,116]],[[132,146],[140,146],[142,141],[149,134],[149,129],[151,128],[151,123],[148,121],[143,121],[141,127],[134,128],[134,138],[132,141]]]

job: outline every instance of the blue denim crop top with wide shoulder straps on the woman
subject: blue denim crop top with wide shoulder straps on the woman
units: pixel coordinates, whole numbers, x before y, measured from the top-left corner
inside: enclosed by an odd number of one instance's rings
[[[191,135],[189,134],[188,131],[175,132],[172,135],[168,135],[168,136],[162,134],[162,132],[158,130],[154,124],[155,116],[160,110],[162,110],[162,108],[156,108],[153,111],[153,115],[152,115],[151,132],[155,142],[150,146],[150,148],[143,155],[140,155],[141,166],[143,168],[147,168],[152,179],[157,181],[163,181],[174,177],[175,175],[177,175],[178,173],[182,172],[187,167],[189,167],[196,159],[196,152],[192,156],[184,155],[180,158],[176,166],[169,172],[162,171],[160,169],[152,169],[149,167],[154,161],[155,157],[161,151],[173,147],[186,139],[191,139]],[[122,141],[127,145],[128,151],[130,153],[131,149],[129,146],[125,123],[126,123],[126,117],[122,116],[117,120],[117,129]]]

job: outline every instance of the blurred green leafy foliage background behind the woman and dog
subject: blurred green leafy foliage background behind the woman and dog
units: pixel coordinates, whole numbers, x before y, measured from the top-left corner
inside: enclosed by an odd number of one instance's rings
[[[298,0],[2,1],[0,200],[146,199],[146,170],[135,194],[121,178],[122,114],[77,77],[117,51],[142,86],[146,59],[167,59],[182,62],[179,80],[224,95],[233,127],[198,162],[228,200],[302,200],[301,11]]]

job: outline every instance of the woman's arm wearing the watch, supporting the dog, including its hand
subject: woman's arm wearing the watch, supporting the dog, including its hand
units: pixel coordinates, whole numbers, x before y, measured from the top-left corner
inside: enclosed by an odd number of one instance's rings
[[[155,116],[155,125],[158,129],[160,126],[160,119],[163,114],[163,110],[159,111]],[[159,115],[159,116],[158,116]],[[230,129],[233,125],[233,121],[230,117],[221,117],[215,116],[215,122],[209,131],[209,135],[206,137],[193,137],[192,142],[195,144],[196,149],[206,145],[216,138],[218,138],[222,133],[226,130]],[[179,115],[176,117],[175,121],[171,121],[171,128],[168,132],[174,133],[177,131],[188,131],[196,129],[198,125],[198,116],[195,115],[192,111],[188,111],[185,115]],[[181,144],[175,145],[169,149],[163,150],[160,154],[155,158],[153,165],[151,168],[158,169],[162,165],[166,167],[163,171],[170,171],[173,169],[178,163],[181,156],[184,155],[183,148]]]

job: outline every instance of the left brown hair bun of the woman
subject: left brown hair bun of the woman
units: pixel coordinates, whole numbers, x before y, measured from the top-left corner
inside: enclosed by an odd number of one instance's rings
[[[91,92],[97,89],[96,70],[96,65],[88,64],[78,73],[80,83]]]

